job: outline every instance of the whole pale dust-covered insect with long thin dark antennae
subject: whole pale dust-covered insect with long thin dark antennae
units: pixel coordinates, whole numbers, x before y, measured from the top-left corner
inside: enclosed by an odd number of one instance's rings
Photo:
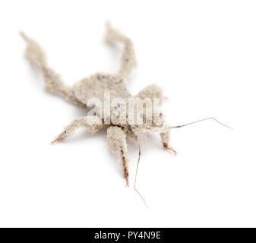
[[[81,106],[84,109],[88,108],[88,105],[93,98],[100,100],[100,103],[103,104],[105,108],[107,103],[106,93],[109,94],[110,102],[120,97],[122,98],[122,101],[125,102],[125,106],[121,106],[120,103],[115,104],[115,106],[111,106],[109,109],[110,115],[106,115],[105,112],[102,112],[102,109],[100,109],[102,106],[96,106],[94,104],[93,107],[96,107],[97,109],[94,110],[92,115],[87,114],[84,115],[84,117],[75,118],[74,121],[67,125],[64,131],[62,131],[62,133],[52,141],[52,144],[60,142],[66,137],[71,136],[78,128],[86,128],[87,131],[91,133],[95,133],[96,131],[100,131],[105,128],[109,149],[122,163],[126,185],[129,185],[127,137],[134,140],[139,148],[139,155],[141,155],[141,146],[146,139],[147,133],[156,132],[160,135],[163,148],[176,154],[175,150],[169,145],[170,129],[181,128],[185,125],[170,127],[166,124],[162,112],[159,112],[158,110],[157,112],[155,110],[152,112],[152,109],[149,115],[144,112],[143,105],[145,103],[146,105],[151,104],[152,108],[152,103],[155,99],[163,99],[163,92],[160,87],[157,87],[154,84],[150,85],[145,87],[144,90],[141,90],[135,96],[132,96],[126,87],[128,74],[130,74],[131,70],[136,67],[136,57],[131,39],[119,32],[119,30],[112,28],[110,24],[107,24],[105,36],[106,42],[111,45],[115,45],[115,43],[123,44],[122,60],[119,71],[115,74],[96,73],[78,81],[74,86],[70,87],[64,83],[62,77],[60,77],[58,73],[56,73],[52,68],[49,68],[46,61],[46,55],[39,44],[33,39],[30,39],[30,37],[26,36],[24,33],[21,33],[21,36],[23,36],[27,42],[27,59],[34,68],[42,72],[43,79],[46,84],[46,90],[50,93],[61,96],[69,103],[72,103],[75,106]],[[128,112],[125,107],[127,108],[127,106],[129,106],[128,101],[131,98],[139,100],[137,103],[137,110],[140,110],[139,117],[141,118],[142,123],[131,122],[131,119],[128,118]],[[138,109],[138,107],[140,107],[140,109]],[[156,108],[155,103],[153,103],[153,108]],[[120,113],[123,115],[120,115]],[[203,120],[207,119],[210,118]],[[147,120],[150,120],[150,122]],[[197,122],[201,122],[203,120]],[[135,190],[136,178],[137,171],[134,181]]]

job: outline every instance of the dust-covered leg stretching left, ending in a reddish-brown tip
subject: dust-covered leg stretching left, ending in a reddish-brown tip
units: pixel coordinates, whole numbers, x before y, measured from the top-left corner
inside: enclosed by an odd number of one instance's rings
[[[100,129],[104,128],[104,125],[102,125],[101,122],[101,119],[96,115],[74,119],[74,121],[71,122],[70,125],[66,126],[64,131],[62,131],[62,133],[52,141],[52,144],[58,143],[59,141],[64,140],[66,137],[71,136],[78,128],[87,128],[87,131],[94,134]]]

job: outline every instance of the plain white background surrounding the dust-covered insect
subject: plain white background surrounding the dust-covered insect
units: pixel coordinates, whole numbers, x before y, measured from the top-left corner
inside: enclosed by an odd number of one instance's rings
[[[256,226],[255,1],[2,1],[0,3],[0,226]],[[141,154],[128,144],[131,188],[106,146],[106,131],[50,141],[82,109],[46,93],[24,58],[24,30],[67,84],[115,72],[121,49],[105,22],[134,41],[136,94],[149,84],[169,97],[172,156],[157,134]]]

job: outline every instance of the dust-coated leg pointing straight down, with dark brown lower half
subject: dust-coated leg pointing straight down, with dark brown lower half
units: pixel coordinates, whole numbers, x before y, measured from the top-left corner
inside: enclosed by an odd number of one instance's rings
[[[118,156],[119,161],[122,163],[126,185],[129,185],[128,173],[128,150],[126,142],[126,134],[119,127],[110,127],[107,130],[107,142],[109,149],[112,153]]]

